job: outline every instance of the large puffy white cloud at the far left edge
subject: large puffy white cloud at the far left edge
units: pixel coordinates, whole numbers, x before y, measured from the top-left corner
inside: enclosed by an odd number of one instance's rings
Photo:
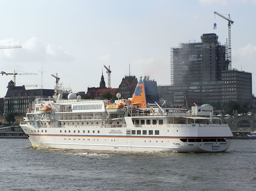
[[[1,46],[19,46],[17,49],[2,49],[0,58],[5,62],[38,62],[44,60],[46,62],[70,62],[75,57],[64,51],[63,48],[53,44],[45,43],[32,37],[25,43],[21,43],[16,39],[0,40]]]

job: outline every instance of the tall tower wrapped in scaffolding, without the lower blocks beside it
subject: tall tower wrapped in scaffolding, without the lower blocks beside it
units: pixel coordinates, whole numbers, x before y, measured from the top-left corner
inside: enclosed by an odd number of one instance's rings
[[[171,50],[174,85],[221,81],[221,71],[228,69],[225,46],[214,33],[203,34],[201,41],[181,43]]]

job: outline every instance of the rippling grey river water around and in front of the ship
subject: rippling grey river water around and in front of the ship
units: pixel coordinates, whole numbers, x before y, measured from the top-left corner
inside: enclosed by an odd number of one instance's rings
[[[84,151],[0,139],[0,190],[256,190],[256,141],[223,153]]]

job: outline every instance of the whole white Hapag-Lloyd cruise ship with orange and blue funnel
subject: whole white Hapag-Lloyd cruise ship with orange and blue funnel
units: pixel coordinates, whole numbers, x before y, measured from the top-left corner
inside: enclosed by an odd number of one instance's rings
[[[159,104],[156,81],[140,80],[132,99],[56,100],[28,110],[21,128],[33,146],[102,151],[223,152],[233,135],[212,107]]]

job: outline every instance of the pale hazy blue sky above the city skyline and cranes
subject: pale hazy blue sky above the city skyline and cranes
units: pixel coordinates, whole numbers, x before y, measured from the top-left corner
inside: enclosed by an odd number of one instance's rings
[[[216,33],[221,44],[231,26],[232,68],[252,73],[256,94],[256,0],[0,0],[0,72],[17,75],[16,85],[54,89],[60,77],[65,89],[87,92],[100,77],[118,88],[125,75],[150,76],[157,85],[170,84],[170,48],[200,42]],[[213,24],[217,29],[213,30]],[[130,64],[130,70],[129,70]],[[43,72],[43,77],[42,77]],[[43,78],[43,80],[42,80]],[[0,98],[13,75],[0,75]]]

